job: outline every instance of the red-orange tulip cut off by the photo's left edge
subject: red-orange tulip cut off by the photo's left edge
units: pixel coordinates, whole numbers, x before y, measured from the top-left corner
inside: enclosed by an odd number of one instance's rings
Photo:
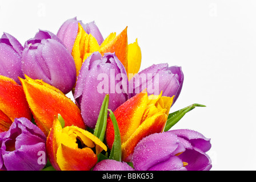
[[[22,86],[0,75],[0,132],[9,130],[14,119],[21,117],[32,118]]]

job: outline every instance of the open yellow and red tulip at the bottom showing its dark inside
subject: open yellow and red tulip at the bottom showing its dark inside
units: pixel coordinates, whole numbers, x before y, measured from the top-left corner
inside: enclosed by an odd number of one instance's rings
[[[107,147],[89,131],[77,126],[61,126],[54,117],[46,140],[47,156],[52,166],[62,171],[88,171],[97,163],[97,155]]]

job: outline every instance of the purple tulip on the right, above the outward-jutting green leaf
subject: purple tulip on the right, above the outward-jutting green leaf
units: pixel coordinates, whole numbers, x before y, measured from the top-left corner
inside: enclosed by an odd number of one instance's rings
[[[139,72],[129,81],[131,97],[142,90],[147,89],[148,94],[174,97],[173,104],[181,93],[183,84],[183,72],[181,67],[168,67],[168,64],[151,65],[151,67]]]

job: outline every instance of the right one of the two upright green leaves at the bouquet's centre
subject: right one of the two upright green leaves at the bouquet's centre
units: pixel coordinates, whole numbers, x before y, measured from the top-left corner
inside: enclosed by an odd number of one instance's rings
[[[122,159],[122,148],[121,148],[120,131],[119,131],[119,128],[118,128],[117,119],[115,118],[115,115],[114,115],[113,111],[111,111],[109,109],[109,112],[110,112],[109,116],[111,118],[111,121],[113,122],[114,132],[115,132],[114,143],[113,143],[113,147],[112,147],[111,152],[110,152],[109,159],[121,161],[121,159]]]

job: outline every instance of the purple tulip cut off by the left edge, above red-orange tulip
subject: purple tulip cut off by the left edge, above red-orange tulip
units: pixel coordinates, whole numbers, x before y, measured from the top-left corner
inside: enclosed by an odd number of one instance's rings
[[[3,33],[0,39],[0,75],[13,78],[17,83],[18,77],[23,78],[21,70],[21,54],[23,46],[13,36]]]

